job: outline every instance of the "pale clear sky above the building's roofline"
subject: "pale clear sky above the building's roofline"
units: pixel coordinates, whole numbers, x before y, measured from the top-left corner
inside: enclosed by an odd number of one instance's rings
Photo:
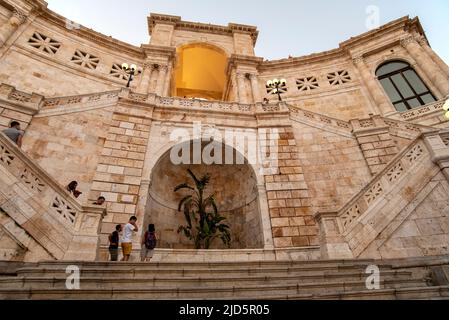
[[[270,60],[337,48],[340,42],[368,31],[376,20],[385,24],[406,15],[419,16],[431,46],[449,63],[449,0],[46,1],[51,10],[68,19],[137,46],[149,42],[146,17],[150,12],[186,21],[254,25],[260,32],[256,55]]]

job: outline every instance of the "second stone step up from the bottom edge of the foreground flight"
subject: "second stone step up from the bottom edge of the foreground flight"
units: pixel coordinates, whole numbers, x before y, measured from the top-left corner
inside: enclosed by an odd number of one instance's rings
[[[65,288],[67,276],[58,277],[9,277],[0,278],[0,288]],[[413,278],[410,272],[389,271],[381,275],[381,279],[386,283],[394,284],[395,281],[401,283],[404,280],[416,281],[425,285],[421,278]],[[135,285],[145,285],[145,287],[218,287],[220,285],[242,286],[242,285],[274,285],[274,284],[309,284],[309,283],[333,283],[365,281],[366,275],[357,273],[334,273],[327,275],[290,275],[290,276],[199,276],[199,277],[164,277],[158,274],[142,276],[122,276],[115,277],[89,277],[81,276],[83,288],[132,288]]]

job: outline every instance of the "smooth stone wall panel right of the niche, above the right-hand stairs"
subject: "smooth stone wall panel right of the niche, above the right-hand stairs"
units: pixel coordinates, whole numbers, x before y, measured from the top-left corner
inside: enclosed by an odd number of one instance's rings
[[[293,130],[314,212],[340,208],[371,179],[355,138],[296,121]]]

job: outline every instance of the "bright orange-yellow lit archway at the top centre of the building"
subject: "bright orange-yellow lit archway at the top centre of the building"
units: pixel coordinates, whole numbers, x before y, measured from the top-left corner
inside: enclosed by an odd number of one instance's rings
[[[179,47],[172,95],[222,100],[226,85],[227,59],[222,49],[206,43]]]

